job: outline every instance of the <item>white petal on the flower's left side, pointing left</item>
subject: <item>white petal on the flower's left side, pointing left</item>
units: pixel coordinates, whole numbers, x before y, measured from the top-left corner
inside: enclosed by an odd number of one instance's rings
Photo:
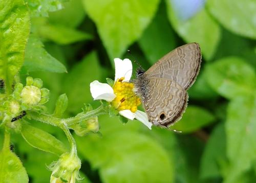
[[[100,83],[97,80],[90,83],[90,90],[94,100],[105,100],[111,102],[116,98],[114,90],[110,85]]]

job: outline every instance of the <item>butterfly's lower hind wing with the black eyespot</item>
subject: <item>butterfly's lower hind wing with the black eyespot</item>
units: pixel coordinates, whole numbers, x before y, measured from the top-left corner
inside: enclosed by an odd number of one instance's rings
[[[177,82],[156,77],[137,80],[148,120],[156,126],[168,127],[178,121],[187,106],[187,92]]]

